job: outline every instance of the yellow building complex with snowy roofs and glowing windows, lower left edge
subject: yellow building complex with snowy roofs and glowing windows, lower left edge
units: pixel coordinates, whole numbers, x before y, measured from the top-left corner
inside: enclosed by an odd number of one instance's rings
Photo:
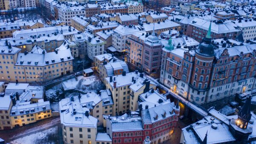
[[[0,130],[22,127],[52,116],[50,103],[44,102],[44,90],[40,86],[9,83],[0,100]]]

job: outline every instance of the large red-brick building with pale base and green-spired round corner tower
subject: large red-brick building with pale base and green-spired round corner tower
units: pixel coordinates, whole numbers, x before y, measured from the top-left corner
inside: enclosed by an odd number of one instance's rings
[[[254,44],[214,48],[210,30],[196,49],[163,49],[160,82],[197,104],[255,88]]]

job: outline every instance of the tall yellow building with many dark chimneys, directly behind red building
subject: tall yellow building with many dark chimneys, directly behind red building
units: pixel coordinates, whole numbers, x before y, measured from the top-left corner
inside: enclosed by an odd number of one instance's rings
[[[156,89],[156,84],[146,79],[143,73],[132,72],[122,75],[110,76],[106,79],[106,89],[113,96],[113,115],[122,115],[128,111],[137,110],[137,101],[141,93],[149,89]]]

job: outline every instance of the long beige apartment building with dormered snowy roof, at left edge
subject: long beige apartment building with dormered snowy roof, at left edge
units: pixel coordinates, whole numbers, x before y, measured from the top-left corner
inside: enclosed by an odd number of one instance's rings
[[[73,72],[70,49],[46,53],[38,47],[33,53],[20,53],[19,48],[2,46],[0,77],[5,82],[47,82]]]

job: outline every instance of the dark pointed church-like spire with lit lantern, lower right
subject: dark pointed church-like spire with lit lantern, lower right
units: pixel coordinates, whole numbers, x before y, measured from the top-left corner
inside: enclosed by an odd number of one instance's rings
[[[247,140],[253,132],[253,127],[249,124],[252,116],[250,104],[251,97],[248,97],[241,110],[239,110],[238,118],[230,121],[230,132],[237,141]]]

